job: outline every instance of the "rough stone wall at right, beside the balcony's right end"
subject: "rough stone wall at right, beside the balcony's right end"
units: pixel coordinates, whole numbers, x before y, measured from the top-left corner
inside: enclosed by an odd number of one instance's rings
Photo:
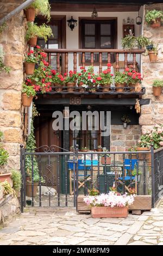
[[[163,10],[163,3],[145,5],[145,13],[153,9]],[[142,132],[151,129],[154,124],[163,124],[163,95],[155,97],[151,86],[156,78],[163,79],[163,27],[154,29],[144,21],[143,35],[158,44],[159,54],[155,63],[149,62],[148,56],[142,56],[143,86],[146,87],[143,99],[151,99],[149,105],[141,106],[139,123],[142,126]]]

